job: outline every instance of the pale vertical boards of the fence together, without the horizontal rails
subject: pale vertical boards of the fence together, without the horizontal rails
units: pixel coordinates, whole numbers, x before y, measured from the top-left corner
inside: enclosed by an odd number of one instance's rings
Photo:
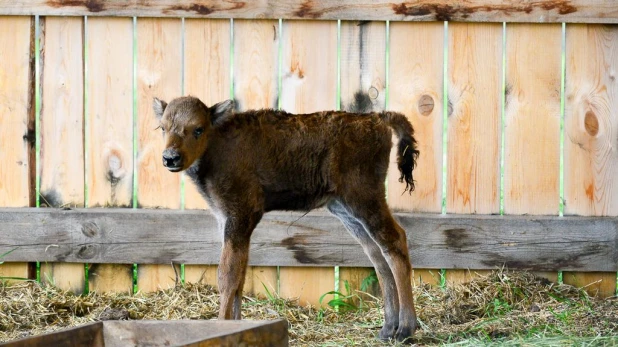
[[[594,22],[592,10],[580,7],[588,17],[557,18]],[[457,17],[438,12],[421,19]],[[615,26],[359,22],[350,14],[338,23],[299,20],[298,13],[281,22],[183,20],[179,14],[185,13],[48,16],[38,27],[33,17],[0,17],[0,28],[7,28],[0,43],[12,52],[0,53],[1,206],[33,207],[40,180],[41,207],[207,209],[190,180],[160,165],[163,144],[151,111],[154,96],[191,94],[209,105],[234,98],[241,110],[404,113],[421,157],[411,195],[401,194],[391,157],[387,200],[399,211],[618,216]],[[42,263],[41,279],[75,292],[132,291],[134,284],[152,291],[175,285],[180,275],[216,285],[213,264],[186,265],[183,273],[181,264],[138,263],[136,283],[133,264],[85,264]],[[5,263],[0,277],[32,277],[32,268]],[[486,271],[476,270],[447,269],[447,284]],[[538,274],[556,281],[558,270]],[[339,286],[348,281],[358,288],[370,273],[341,267]],[[439,273],[415,268],[412,280],[437,284]],[[602,295],[616,290],[615,272],[565,272],[564,281]],[[245,291],[263,294],[264,286],[317,304],[335,288],[335,269],[250,268]]]

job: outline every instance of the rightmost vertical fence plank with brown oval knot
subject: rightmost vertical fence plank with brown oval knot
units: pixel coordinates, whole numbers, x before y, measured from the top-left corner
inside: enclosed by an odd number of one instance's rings
[[[617,216],[618,28],[569,24],[566,39],[564,212]],[[593,295],[616,291],[614,272],[564,273],[563,280]]]

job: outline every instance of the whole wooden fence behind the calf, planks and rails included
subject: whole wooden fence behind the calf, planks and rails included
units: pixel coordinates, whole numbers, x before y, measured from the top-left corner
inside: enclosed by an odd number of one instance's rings
[[[76,292],[216,283],[216,223],[161,165],[151,111],[191,94],[405,113],[417,190],[394,168],[386,184],[415,281],[507,266],[616,290],[618,3],[0,0],[0,15],[0,277],[40,262]],[[335,266],[353,287],[370,273],[334,217],[270,213],[245,290],[317,303]]]

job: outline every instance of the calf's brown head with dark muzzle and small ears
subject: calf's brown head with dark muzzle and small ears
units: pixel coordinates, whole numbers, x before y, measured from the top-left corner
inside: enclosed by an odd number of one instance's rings
[[[178,172],[204,154],[212,130],[232,115],[234,102],[226,100],[208,107],[192,96],[176,98],[169,104],[154,98],[153,109],[165,140],[163,166]]]

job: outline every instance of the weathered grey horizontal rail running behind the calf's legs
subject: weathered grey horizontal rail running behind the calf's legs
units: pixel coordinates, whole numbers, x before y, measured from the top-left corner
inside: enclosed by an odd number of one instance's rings
[[[419,268],[617,271],[618,219],[397,213]],[[4,261],[216,264],[206,211],[0,209]],[[339,221],[321,212],[268,213],[251,265],[371,266]]]

